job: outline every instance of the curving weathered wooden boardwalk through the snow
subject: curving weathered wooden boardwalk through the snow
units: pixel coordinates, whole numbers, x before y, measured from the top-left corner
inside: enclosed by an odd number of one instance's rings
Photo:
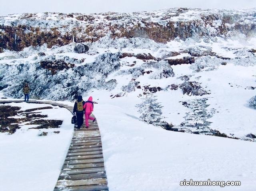
[[[0,100],[0,103],[22,102]],[[31,100],[29,103],[44,103],[67,108],[73,107],[52,101]],[[71,120],[71,119],[70,119]],[[84,121],[85,122],[85,121]],[[73,138],[54,191],[108,191],[102,143],[97,121],[89,120],[81,129],[74,128]]]

